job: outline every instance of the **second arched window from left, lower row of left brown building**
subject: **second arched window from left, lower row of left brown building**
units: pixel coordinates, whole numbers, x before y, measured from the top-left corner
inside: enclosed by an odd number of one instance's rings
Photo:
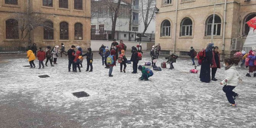
[[[53,40],[53,23],[52,21],[44,22],[44,39]]]

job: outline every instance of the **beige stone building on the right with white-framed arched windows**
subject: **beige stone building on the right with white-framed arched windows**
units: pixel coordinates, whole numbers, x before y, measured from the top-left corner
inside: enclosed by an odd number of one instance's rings
[[[186,56],[191,46],[196,51],[206,48],[214,2],[214,45],[226,56],[241,50],[250,29],[246,22],[256,16],[256,0],[157,0],[156,44],[162,52]]]

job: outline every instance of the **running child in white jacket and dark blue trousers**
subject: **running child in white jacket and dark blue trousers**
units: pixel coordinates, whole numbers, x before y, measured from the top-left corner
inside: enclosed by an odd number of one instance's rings
[[[241,76],[237,72],[235,65],[238,65],[240,61],[239,57],[225,58],[225,79],[220,83],[220,85],[224,85],[222,90],[226,93],[228,102],[232,107],[236,107],[235,99],[239,96],[239,94],[233,92],[232,90],[238,85],[238,81],[242,80]],[[234,98],[233,98],[234,97]]]

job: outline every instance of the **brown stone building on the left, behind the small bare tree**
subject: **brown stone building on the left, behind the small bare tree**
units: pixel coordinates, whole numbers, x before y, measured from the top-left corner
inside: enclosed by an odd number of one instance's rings
[[[28,3],[29,2],[29,3]],[[0,46],[17,46],[21,31],[14,29],[19,23],[12,19],[15,12],[27,12],[46,16],[49,28],[37,27],[31,31],[31,42],[37,47],[64,43],[90,47],[91,2],[90,0],[0,0]],[[20,44],[26,47],[28,44]]]

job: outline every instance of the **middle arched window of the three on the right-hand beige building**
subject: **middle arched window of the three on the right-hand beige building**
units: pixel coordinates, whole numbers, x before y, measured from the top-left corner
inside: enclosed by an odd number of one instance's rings
[[[180,23],[180,36],[192,36],[192,20],[190,18],[182,19]]]

